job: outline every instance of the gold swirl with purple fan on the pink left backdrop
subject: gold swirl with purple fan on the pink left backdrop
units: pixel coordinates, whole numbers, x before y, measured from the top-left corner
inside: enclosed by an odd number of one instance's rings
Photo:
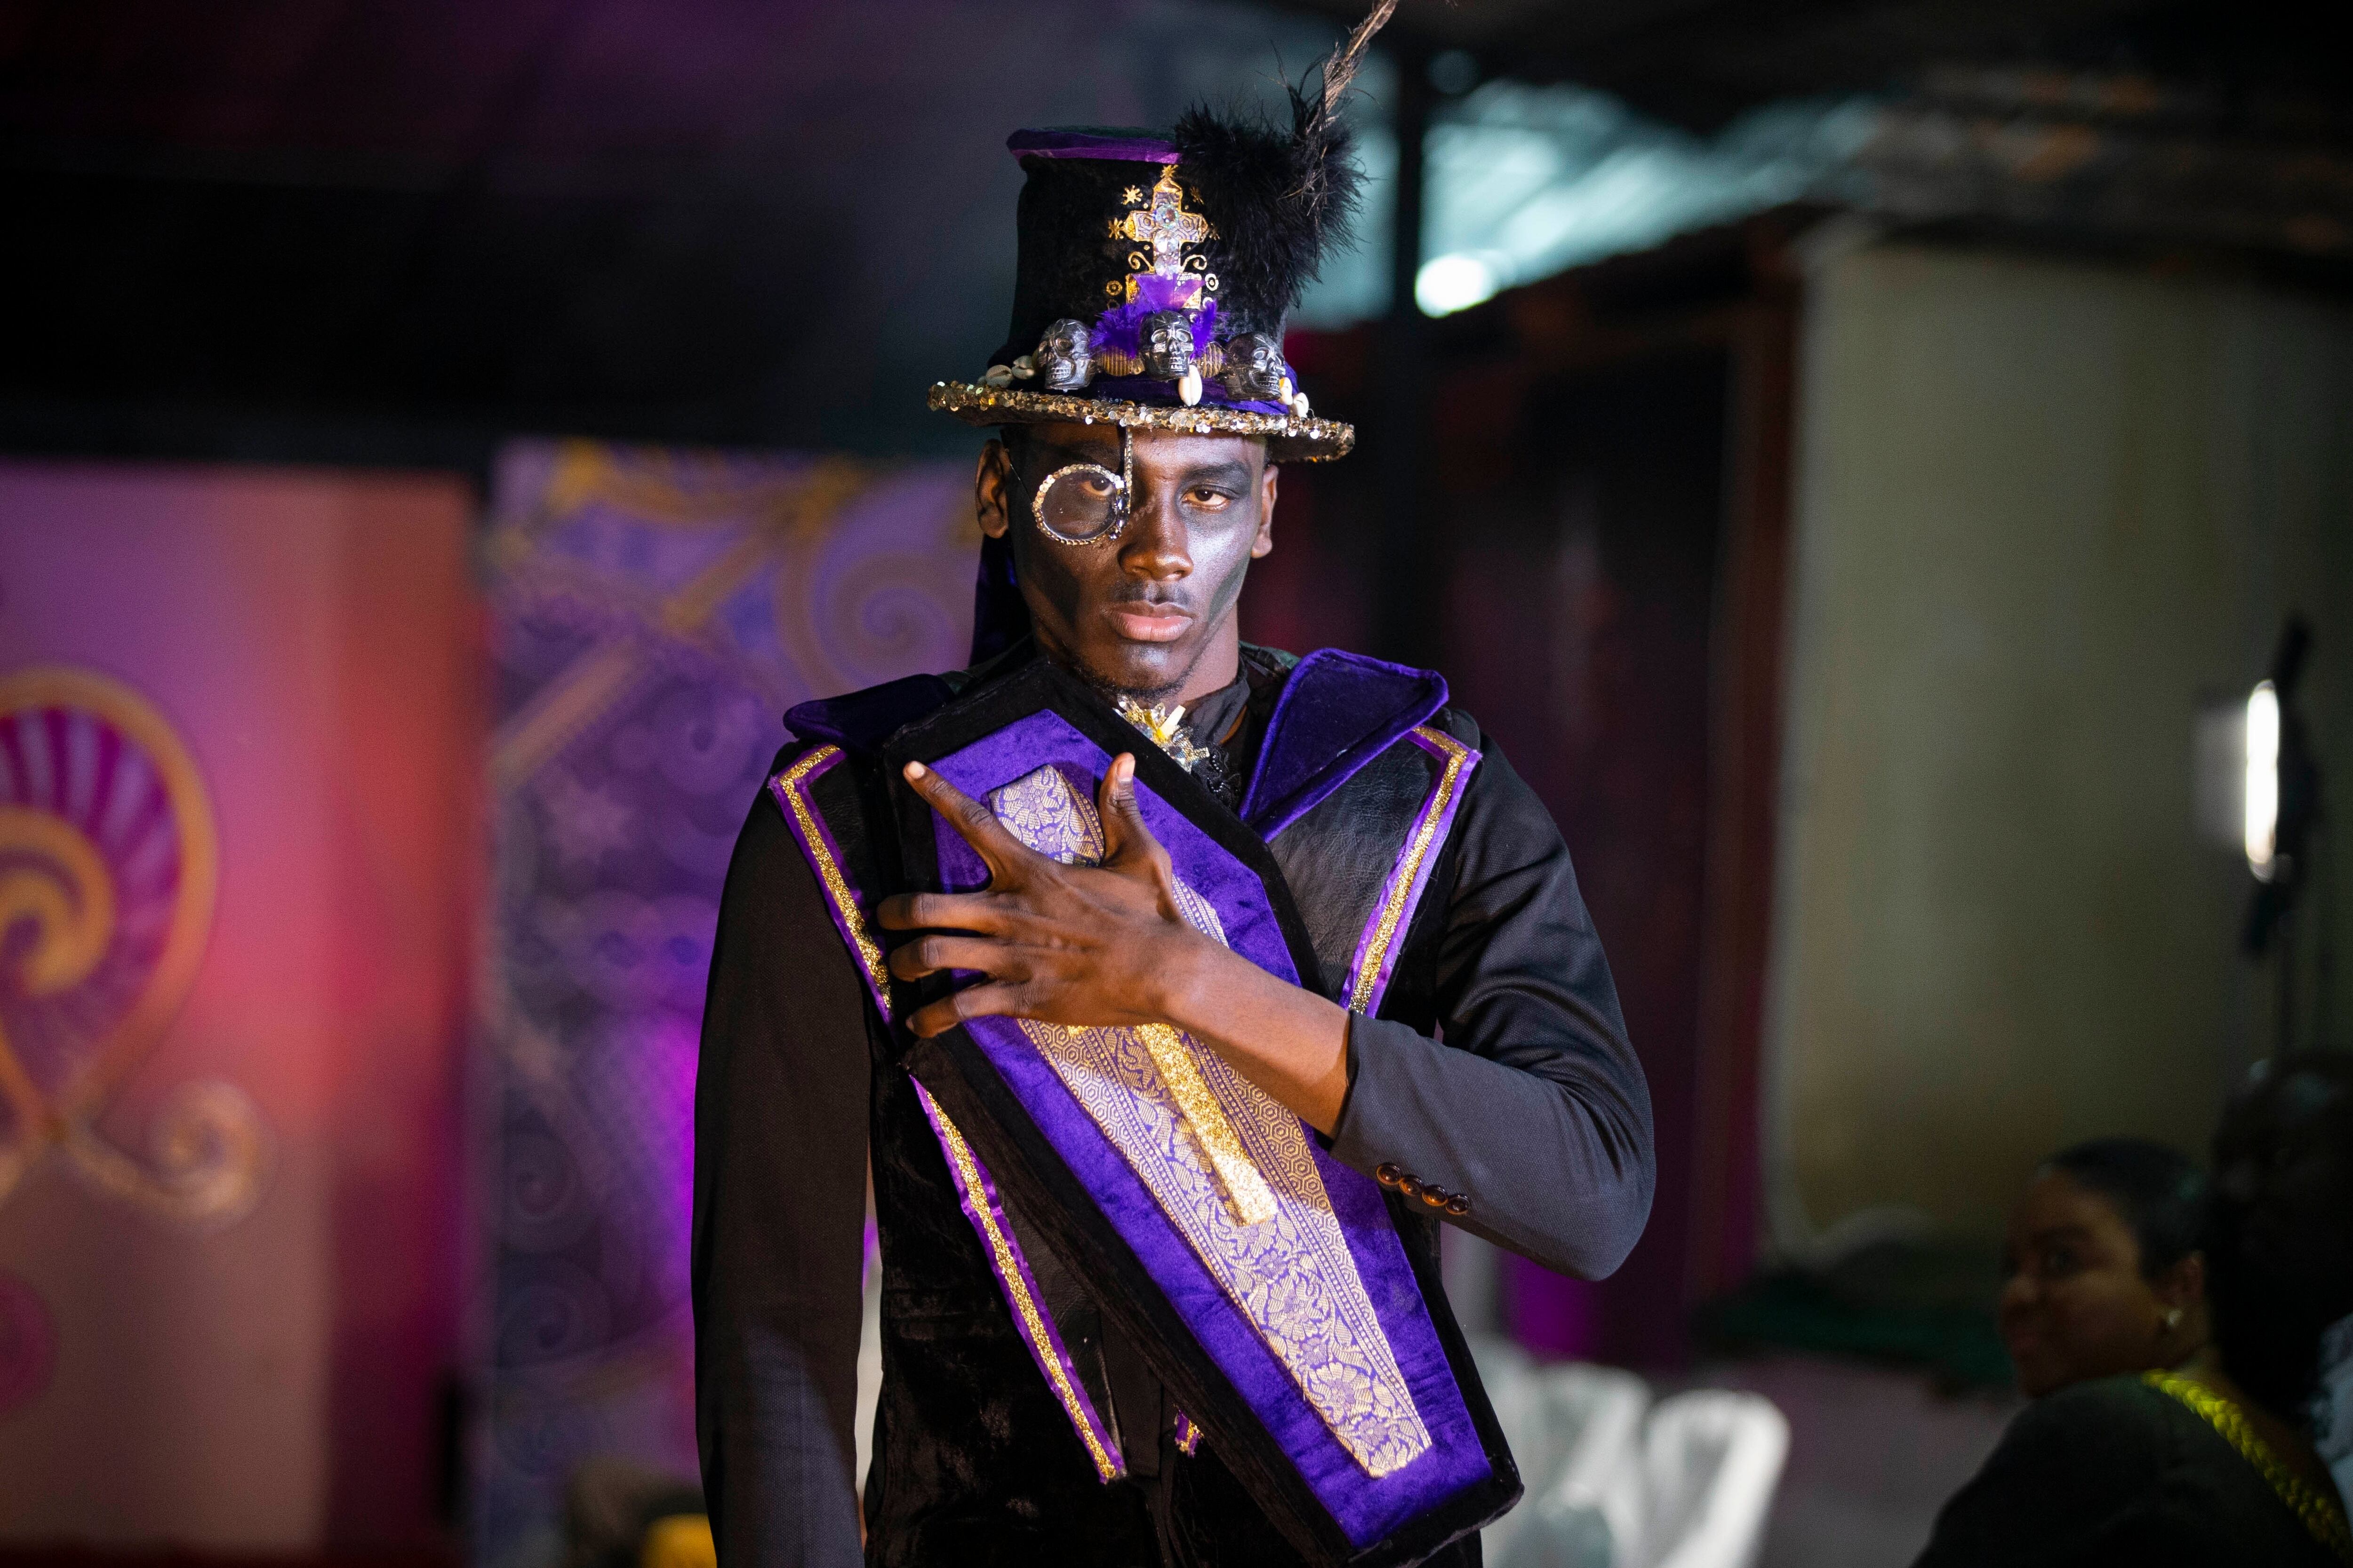
[[[181,1084],[136,1159],[96,1117],[179,1016],[212,931],[219,846],[195,759],[106,675],[0,677],[0,1201],[59,1150],[101,1192],[186,1225],[242,1218],[271,1140],[231,1084]],[[94,766],[96,755],[115,762]]]

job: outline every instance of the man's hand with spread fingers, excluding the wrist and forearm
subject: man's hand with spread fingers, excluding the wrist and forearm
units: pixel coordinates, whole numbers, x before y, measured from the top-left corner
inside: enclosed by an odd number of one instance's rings
[[[1169,853],[1136,809],[1136,759],[1120,752],[1096,797],[1104,818],[1101,865],[1061,865],[1040,856],[946,778],[911,762],[906,780],[948,818],[988,865],[981,893],[901,893],[885,898],[882,926],[929,931],[889,954],[889,971],[920,980],[941,969],[969,969],[981,983],[915,1011],[906,1025],[922,1037],[965,1018],[1007,1013],[1042,1023],[1165,1023],[1169,983],[1224,950],[1176,912]],[[1231,954],[1228,954],[1231,957]]]

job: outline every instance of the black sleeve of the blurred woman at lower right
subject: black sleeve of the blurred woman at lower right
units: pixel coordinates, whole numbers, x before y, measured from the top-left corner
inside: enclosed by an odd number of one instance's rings
[[[2158,1533],[2162,1429],[2134,1389],[2080,1382],[2026,1406],[1937,1514],[1913,1568],[2092,1568],[2181,1561]]]

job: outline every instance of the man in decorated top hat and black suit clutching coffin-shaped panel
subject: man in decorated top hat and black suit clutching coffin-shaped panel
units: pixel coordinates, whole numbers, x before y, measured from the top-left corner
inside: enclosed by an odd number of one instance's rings
[[[1040,1051],[1080,1037],[1179,1048],[1155,1060],[1195,1079],[1193,1100],[1172,1091],[1188,1107],[1172,1114],[1191,1128],[1179,1154],[1226,1182],[1233,1211],[1217,1225],[1257,1218],[1266,1161],[1252,1166],[1249,1138],[1266,1126],[1221,1143],[1200,1081],[1224,1084],[1212,1098],[1235,1117],[1247,1100],[1294,1138],[1313,1128],[1299,1147],[1334,1211],[1351,1182],[1369,1194],[1379,1237],[1395,1234],[1381,1246],[1402,1244],[1412,1272],[1377,1279],[1377,1248],[1351,1241],[1362,1288],[1346,1262],[1339,1286],[1308,1284],[1369,1302],[1365,1321],[1395,1340],[1381,1366],[1407,1368],[1407,1403],[1428,1422],[1409,1408],[1419,1448],[1351,1450],[1355,1469],[1313,1481],[1388,1509],[1360,1519],[1334,1561],[1379,1537],[1384,1561],[1475,1563],[1475,1537],[1447,1533],[1515,1490],[1508,1458],[1489,1476],[1478,1455],[1482,1439],[1499,1450],[1485,1401],[1475,1387],[1454,1396],[1475,1380],[1431,1267],[1438,1225],[1593,1279],[1649,1213],[1647,1088],[1544,806],[1442,705],[1435,675],[1292,661],[1238,635],[1247,567],[1275,541],[1280,463],[1353,440],[1308,416],[1289,371],[1266,395],[1261,341],[1280,346],[1282,313],[1353,195],[1329,110],[1369,31],[1325,66],[1313,103],[1294,99],[1289,134],[1195,113],[1167,139],[1012,141],[1028,172],[1014,336],[981,381],[932,390],[934,407],[1000,428],[976,477],[976,663],[793,710],[795,743],[753,804],[720,910],[696,1084],[694,1305],[704,1483],[729,1568],[859,1556],[849,1420],[868,1159],[885,1363],[868,1561],[1280,1563],[1313,1535],[1273,1516],[1280,1488],[1249,1455],[1346,1439],[1344,1401],[1294,1366],[1329,1432],[1268,1436],[1254,1427],[1264,1401],[1219,1406],[1221,1425],[1195,1408],[1195,1425],[1160,1375],[1193,1366],[1188,1331],[1151,1328],[1101,1255],[1073,1255],[1068,1215],[1047,1213],[1035,1182],[991,1180],[974,1147],[995,1128],[958,1131],[974,1112],[946,1114],[934,1095],[955,1074],[925,1044],[1021,1020]],[[1167,353],[1172,313],[1188,355]],[[958,790],[946,764],[882,762],[1038,686],[1042,668],[1158,748],[1106,748],[1092,799],[1064,802],[1096,837],[1089,853],[1040,853],[1052,844],[1035,823],[1002,792]],[[972,891],[920,891],[911,839],[892,837],[906,799],[984,867]],[[1200,863],[1179,865],[1148,820],[1146,806],[1176,823],[1169,802],[1282,884],[1294,964],[1245,957],[1231,917],[1217,922],[1217,900],[1188,884]],[[1412,1361],[1409,1333],[1435,1333],[1452,1361]],[[1299,1389],[1278,1394],[1297,1403]],[[1445,1427],[1440,1406],[1471,1410],[1468,1425]],[[1485,1476],[1471,1490],[1497,1500],[1485,1514],[1449,1516],[1438,1490],[1381,1490],[1459,1467],[1464,1446],[1461,1474]]]

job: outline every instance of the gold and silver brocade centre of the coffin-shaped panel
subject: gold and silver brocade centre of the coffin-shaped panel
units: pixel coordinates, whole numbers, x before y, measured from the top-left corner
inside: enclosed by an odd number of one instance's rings
[[[1073,863],[1101,858],[1094,804],[1056,769],[1016,778],[988,804],[1038,853]],[[1186,922],[1224,943],[1217,910],[1181,882],[1176,893]],[[1071,1030],[1035,1020],[1021,1020],[1021,1030],[1257,1326],[1348,1455],[1367,1474],[1386,1476],[1426,1453],[1431,1432],[1365,1293],[1299,1117],[1214,1051],[1167,1030],[1273,1199],[1271,1218],[1247,1225],[1202,1147],[1200,1121],[1162,1074],[1144,1030]]]

